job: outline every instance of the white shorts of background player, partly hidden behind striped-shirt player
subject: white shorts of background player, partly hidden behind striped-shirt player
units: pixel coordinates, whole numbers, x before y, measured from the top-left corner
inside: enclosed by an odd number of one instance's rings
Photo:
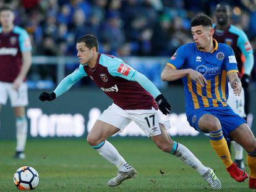
[[[228,83],[228,93],[228,105],[236,114],[240,115],[241,117],[246,117],[244,112],[244,89],[242,88],[240,96],[235,96],[233,93],[233,88],[231,88],[230,83]]]

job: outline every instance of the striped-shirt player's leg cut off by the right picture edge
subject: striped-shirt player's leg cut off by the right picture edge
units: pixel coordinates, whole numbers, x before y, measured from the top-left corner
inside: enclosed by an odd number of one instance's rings
[[[247,165],[250,169],[249,187],[256,188],[256,140],[254,134],[247,123],[243,123],[229,135],[247,151]]]

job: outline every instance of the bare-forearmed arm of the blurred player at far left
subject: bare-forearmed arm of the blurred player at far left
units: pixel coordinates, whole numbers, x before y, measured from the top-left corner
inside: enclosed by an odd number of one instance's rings
[[[28,33],[25,30],[19,36],[19,46],[20,51],[22,52],[22,67],[18,76],[15,78],[14,83],[12,84],[15,90],[20,87],[23,80],[26,78],[28,70],[30,69],[30,66],[32,64],[32,46]]]

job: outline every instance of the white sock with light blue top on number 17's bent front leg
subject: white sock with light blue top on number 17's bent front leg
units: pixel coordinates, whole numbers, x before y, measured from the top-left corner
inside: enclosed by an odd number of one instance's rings
[[[127,164],[124,158],[119,154],[119,152],[114,148],[114,146],[107,140],[102,141],[96,146],[92,146],[93,149],[99,152],[99,154],[106,160],[111,162],[111,164],[116,165],[117,169],[122,172],[128,172],[131,166]]]

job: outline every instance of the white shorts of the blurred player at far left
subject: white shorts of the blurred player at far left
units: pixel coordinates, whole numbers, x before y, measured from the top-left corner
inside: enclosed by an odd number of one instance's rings
[[[28,105],[28,86],[27,83],[22,83],[19,90],[12,88],[12,83],[0,81],[0,104],[4,105],[10,98],[12,107],[22,107]]]

